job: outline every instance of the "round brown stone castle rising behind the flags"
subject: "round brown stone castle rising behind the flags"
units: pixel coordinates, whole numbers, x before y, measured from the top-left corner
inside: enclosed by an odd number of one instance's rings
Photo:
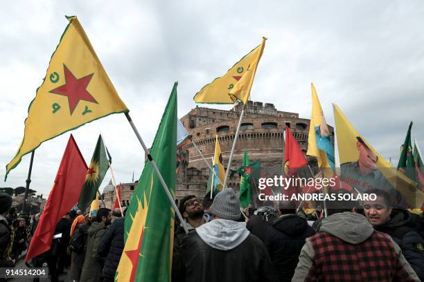
[[[195,109],[181,118],[184,127],[192,136],[193,142],[210,165],[215,152],[215,136],[218,135],[223,163],[224,166],[227,166],[241,109],[242,104],[236,104],[230,111],[196,106]],[[290,128],[302,151],[306,153],[309,123],[310,120],[299,118],[299,113],[278,111],[274,104],[247,102],[236,151],[233,153],[231,169],[235,170],[240,167],[245,150],[249,153],[250,161],[260,160],[262,167],[281,165],[285,126]],[[328,126],[328,128],[331,139],[334,140],[333,127]],[[191,142],[179,148],[179,156],[182,157],[183,165],[180,173],[177,174],[175,198],[181,199],[191,194],[203,198],[210,173],[209,167]],[[136,187],[136,182],[123,183],[122,185],[123,205],[127,205]],[[228,186],[238,190],[240,188],[240,177],[236,175],[230,178]],[[104,194],[107,206],[112,207],[114,203],[112,182],[109,182],[109,185],[105,187]]]

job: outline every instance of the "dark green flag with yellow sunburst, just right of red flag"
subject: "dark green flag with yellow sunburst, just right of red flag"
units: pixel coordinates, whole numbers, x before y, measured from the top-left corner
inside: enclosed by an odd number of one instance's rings
[[[78,208],[85,211],[91,202],[96,199],[98,187],[105,178],[107,169],[109,169],[109,160],[107,159],[105,144],[103,143],[102,135],[98,135],[96,149],[94,149],[93,157],[85,176],[84,186],[81,190],[80,199],[78,200]]]

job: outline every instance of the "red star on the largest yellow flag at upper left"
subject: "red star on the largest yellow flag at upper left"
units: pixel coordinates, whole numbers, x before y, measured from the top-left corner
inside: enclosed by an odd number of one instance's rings
[[[73,110],[75,110],[76,106],[78,105],[78,102],[80,100],[84,100],[87,102],[93,102],[98,104],[96,99],[94,99],[93,96],[87,91],[87,86],[91,80],[91,77],[93,77],[94,73],[91,73],[91,75],[86,75],[85,77],[81,77],[77,79],[71,71],[69,71],[69,68],[63,64],[64,68],[64,77],[65,77],[65,84],[62,86],[59,86],[58,88],[53,89],[50,91],[50,93],[58,94],[58,95],[64,95],[68,97],[69,101],[69,109],[71,111],[71,115],[73,113]]]

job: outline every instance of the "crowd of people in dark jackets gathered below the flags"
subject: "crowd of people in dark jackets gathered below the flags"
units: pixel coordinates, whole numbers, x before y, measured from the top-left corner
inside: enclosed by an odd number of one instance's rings
[[[386,191],[369,193],[376,199],[328,201],[327,216],[292,202],[243,210],[231,188],[186,196],[178,203],[184,223],[175,223],[172,281],[424,281],[423,215],[395,208]],[[24,256],[40,217],[18,216],[11,204],[0,194],[0,267]],[[64,272],[71,281],[114,281],[124,221],[119,209],[91,217],[71,211],[56,226],[62,236],[28,266],[47,266],[51,281]]]

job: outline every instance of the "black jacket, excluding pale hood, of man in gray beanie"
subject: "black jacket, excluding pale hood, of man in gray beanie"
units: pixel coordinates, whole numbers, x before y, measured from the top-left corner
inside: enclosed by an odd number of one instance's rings
[[[197,231],[183,239],[186,282],[276,281],[270,256],[260,239],[249,234],[232,250],[222,251],[207,245]]]

